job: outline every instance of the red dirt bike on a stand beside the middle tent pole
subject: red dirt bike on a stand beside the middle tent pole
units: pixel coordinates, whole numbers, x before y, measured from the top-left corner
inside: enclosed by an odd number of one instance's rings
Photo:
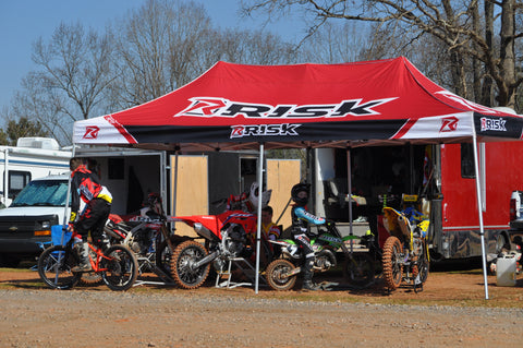
[[[254,185],[253,185],[254,187]],[[257,192],[251,190],[251,196]],[[268,193],[268,194],[267,194]],[[267,204],[270,191],[263,193],[263,204]],[[232,196],[231,196],[232,197]],[[205,239],[205,245],[194,240],[180,243],[171,257],[171,276],[181,288],[195,289],[202,286],[209,275],[210,264],[217,272],[222,272],[228,262],[235,257],[254,261],[257,216],[238,207],[244,207],[242,200],[229,199],[228,208],[218,215],[177,216],[174,221],[185,223]],[[243,200],[245,202],[245,200]],[[255,199],[251,200],[255,202]],[[250,208],[252,209],[252,207]],[[262,240],[266,262],[271,259],[271,249]]]

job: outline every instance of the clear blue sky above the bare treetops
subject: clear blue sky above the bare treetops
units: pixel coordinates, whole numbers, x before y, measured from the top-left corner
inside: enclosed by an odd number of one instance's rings
[[[50,38],[60,22],[104,27],[145,0],[0,0],[0,108],[8,106],[22,79],[33,69],[32,44]],[[195,0],[203,3],[215,25],[255,28],[263,22],[241,19],[240,0]],[[301,35],[297,22],[281,21],[275,32],[287,39]]]

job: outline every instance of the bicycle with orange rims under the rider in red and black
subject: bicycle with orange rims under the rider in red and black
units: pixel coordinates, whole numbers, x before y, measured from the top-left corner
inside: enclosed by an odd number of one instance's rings
[[[65,245],[56,244],[42,251],[38,257],[38,275],[49,287],[70,289],[75,286],[83,273],[72,272],[80,264],[80,255],[74,248],[75,238]],[[127,290],[138,275],[138,264],[134,253],[125,245],[88,243],[89,262],[93,273],[100,275],[111,290]]]

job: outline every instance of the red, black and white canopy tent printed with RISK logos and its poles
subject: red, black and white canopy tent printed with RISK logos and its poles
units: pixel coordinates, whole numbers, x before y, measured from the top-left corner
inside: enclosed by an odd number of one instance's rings
[[[75,122],[73,142],[175,151],[259,147],[263,152],[391,142],[475,144],[476,139],[520,140],[522,130],[522,117],[446,91],[403,57],[344,64],[220,61],[155,100]],[[483,226],[481,214],[479,219]]]

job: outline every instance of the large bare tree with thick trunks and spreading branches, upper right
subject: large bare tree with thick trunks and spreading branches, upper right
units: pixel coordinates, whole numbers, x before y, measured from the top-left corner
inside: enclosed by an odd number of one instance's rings
[[[242,3],[246,14],[265,11],[269,17],[291,9],[303,11],[313,19],[311,33],[329,19],[342,19],[378,23],[412,39],[430,35],[445,45],[457,93],[470,94],[465,91],[465,68],[471,67],[476,80],[474,94],[481,91],[483,94],[475,95],[475,99],[487,100],[494,83],[497,104],[515,105],[516,89],[522,82],[515,69],[522,61],[515,50],[516,40],[523,36],[516,27],[523,7],[520,0],[242,0]],[[497,39],[492,39],[495,27],[499,28]]]

